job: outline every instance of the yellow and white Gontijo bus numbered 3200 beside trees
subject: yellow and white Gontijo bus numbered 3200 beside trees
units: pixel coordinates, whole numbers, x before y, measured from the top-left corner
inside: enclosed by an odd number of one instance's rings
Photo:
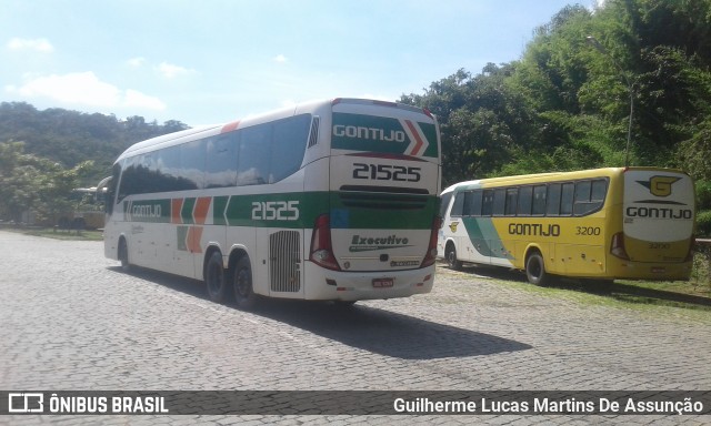
[[[689,280],[694,190],[678,170],[610,168],[482,179],[442,192],[438,256],[552,275]]]

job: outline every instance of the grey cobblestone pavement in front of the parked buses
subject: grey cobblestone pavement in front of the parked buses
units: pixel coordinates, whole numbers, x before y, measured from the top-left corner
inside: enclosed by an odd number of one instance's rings
[[[0,232],[0,388],[711,389],[711,318],[582,305],[438,268],[429,295],[209,302],[100,242]],[[711,317],[711,315],[710,315]],[[0,424],[709,424],[711,416],[14,416]]]

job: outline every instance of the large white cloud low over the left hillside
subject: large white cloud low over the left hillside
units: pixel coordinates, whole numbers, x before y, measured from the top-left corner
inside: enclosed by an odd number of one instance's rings
[[[29,78],[21,87],[7,85],[6,91],[24,98],[49,98],[70,105],[166,109],[158,98],[131,89],[123,91],[99,80],[91,71]]]

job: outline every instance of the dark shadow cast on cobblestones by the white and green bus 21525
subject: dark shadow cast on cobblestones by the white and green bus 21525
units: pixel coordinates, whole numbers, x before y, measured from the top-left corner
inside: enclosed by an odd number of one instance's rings
[[[120,270],[111,268],[117,272]],[[207,300],[198,281],[143,268],[131,275]],[[425,296],[427,297],[427,296]],[[278,321],[351,347],[402,359],[492,355],[531,346],[414,316],[356,304],[261,298],[251,314]]]

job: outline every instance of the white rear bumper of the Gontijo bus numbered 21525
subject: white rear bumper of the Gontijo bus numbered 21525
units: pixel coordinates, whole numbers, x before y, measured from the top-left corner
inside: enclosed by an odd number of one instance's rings
[[[434,265],[410,271],[330,271],[304,262],[308,284],[304,298],[312,301],[363,301],[409,297],[432,291]]]

